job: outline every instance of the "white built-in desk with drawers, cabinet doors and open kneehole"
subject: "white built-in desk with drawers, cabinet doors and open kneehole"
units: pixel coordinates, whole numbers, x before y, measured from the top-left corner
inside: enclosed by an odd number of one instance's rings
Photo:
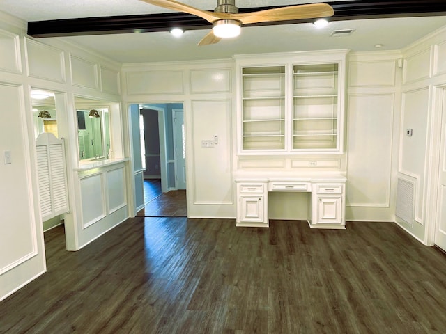
[[[306,192],[310,228],[344,229],[346,177],[339,173],[313,175],[237,175],[237,226],[269,227],[268,192]]]

